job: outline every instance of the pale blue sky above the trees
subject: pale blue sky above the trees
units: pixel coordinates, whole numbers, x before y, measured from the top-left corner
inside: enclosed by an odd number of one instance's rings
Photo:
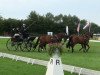
[[[100,0],[0,0],[0,15],[4,18],[26,19],[31,11],[76,15],[100,26]]]

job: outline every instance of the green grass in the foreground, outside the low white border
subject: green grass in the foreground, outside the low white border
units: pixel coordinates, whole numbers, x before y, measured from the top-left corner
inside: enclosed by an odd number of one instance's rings
[[[45,75],[46,67],[0,58],[0,75]],[[64,72],[64,75],[76,75]]]

